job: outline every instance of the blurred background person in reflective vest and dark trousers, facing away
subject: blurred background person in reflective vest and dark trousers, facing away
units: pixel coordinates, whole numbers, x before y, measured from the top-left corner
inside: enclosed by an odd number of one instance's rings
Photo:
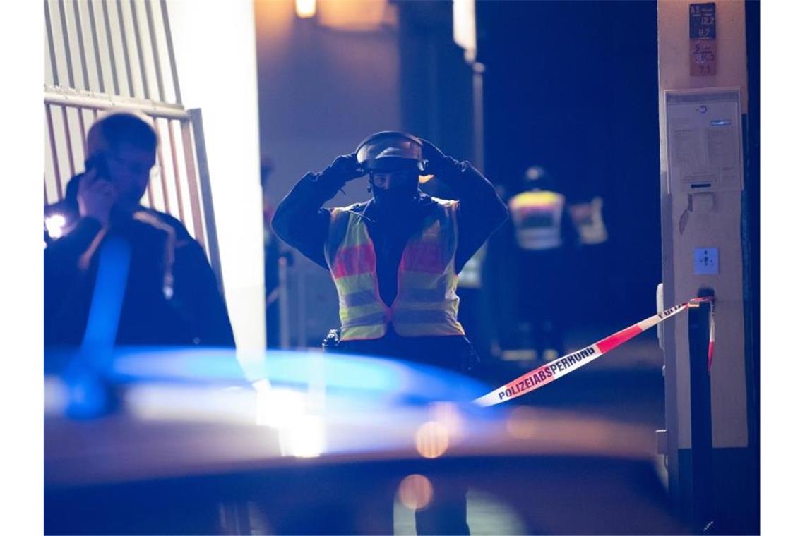
[[[530,324],[537,358],[550,361],[564,354],[568,248],[578,235],[555,178],[540,166],[523,175],[525,191],[509,200],[520,254],[520,313]]]

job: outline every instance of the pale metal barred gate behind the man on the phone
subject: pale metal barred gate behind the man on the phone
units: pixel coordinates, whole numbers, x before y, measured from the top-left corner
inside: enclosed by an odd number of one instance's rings
[[[180,219],[220,282],[201,113],[182,105],[165,0],[47,0],[44,10],[45,203],[84,170],[100,113],[143,113],[159,149],[142,204]]]

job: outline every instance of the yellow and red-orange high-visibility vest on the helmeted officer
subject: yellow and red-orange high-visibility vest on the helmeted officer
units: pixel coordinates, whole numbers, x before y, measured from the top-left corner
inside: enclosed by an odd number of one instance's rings
[[[377,256],[361,215],[333,208],[324,258],[338,292],[341,340],[376,339],[388,325],[403,337],[464,335],[458,321],[456,211],[458,202],[436,201],[400,260],[397,297],[380,297]]]

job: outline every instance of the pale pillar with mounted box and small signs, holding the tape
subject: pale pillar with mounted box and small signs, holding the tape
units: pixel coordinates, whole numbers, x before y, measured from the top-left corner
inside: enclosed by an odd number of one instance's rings
[[[696,18],[691,28],[691,18],[699,16],[697,6],[708,17],[713,5],[716,20],[710,29],[715,31],[715,39],[704,44],[693,41],[691,29],[698,31],[702,23],[707,26],[710,22]],[[745,159],[741,149],[748,111],[745,36],[744,2],[658,1],[664,305],[695,297],[700,288],[712,288],[716,294],[716,346],[710,374],[712,481],[716,487],[709,529],[716,534],[759,530],[757,445],[750,441],[757,407],[753,407],[750,392],[753,367],[748,366],[752,356],[749,329],[745,329],[745,285],[749,277],[749,263],[745,261]],[[704,63],[696,63],[691,59],[696,45],[700,51],[714,49],[715,57],[698,55]],[[725,119],[732,96],[737,96],[734,116]],[[675,120],[677,116],[673,115],[669,121],[667,117],[669,102],[687,104],[686,99],[691,106],[687,130],[685,120]],[[721,111],[716,113],[716,109]],[[696,110],[701,115],[697,116]],[[730,139],[737,140],[734,146]],[[700,159],[698,166],[693,163],[696,159]],[[730,162],[737,164],[732,170]],[[707,262],[703,260],[705,252]],[[695,506],[691,505],[691,488],[700,477],[692,474],[690,463],[691,411],[696,408],[691,408],[685,315],[671,321],[664,339],[669,486],[671,497],[684,514]],[[704,530],[704,526],[694,529]]]

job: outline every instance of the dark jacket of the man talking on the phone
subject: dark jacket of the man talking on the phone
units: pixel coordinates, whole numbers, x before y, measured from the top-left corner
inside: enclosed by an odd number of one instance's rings
[[[110,235],[132,245],[118,341],[235,346],[225,302],[200,244],[178,220],[148,212],[175,231],[173,296],[165,297],[161,286],[165,244],[161,238],[167,231],[137,222],[111,228]],[[86,266],[80,265],[81,256],[89,252],[100,232],[100,223],[81,219],[72,231],[45,249],[44,328],[48,345],[81,342],[94,292],[97,248],[92,248],[94,253]]]

